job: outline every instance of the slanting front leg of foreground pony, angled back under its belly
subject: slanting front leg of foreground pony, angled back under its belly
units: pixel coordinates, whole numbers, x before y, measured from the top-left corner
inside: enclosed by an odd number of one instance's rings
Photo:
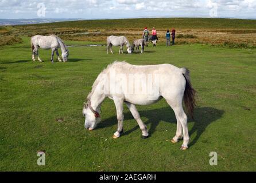
[[[137,121],[139,128],[142,131],[142,138],[149,137],[147,126],[143,123],[141,120],[141,117],[139,116],[138,110],[136,109],[136,106],[134,104],[131,104],[129,102],[125,102],[127,107],[129,108],[131,114],[133,114],[134,119]]]

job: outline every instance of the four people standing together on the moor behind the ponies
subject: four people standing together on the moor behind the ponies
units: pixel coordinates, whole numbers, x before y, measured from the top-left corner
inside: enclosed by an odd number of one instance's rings
[[[166,31],[166,46],[170,46],[170,37],[172,37],[172,45],[174,45],[174,39],[175,39],[175,32],[176,30],[172,28],[172,33],[170,33],[169,29]],[[156,42],[158,40],[157,38],[157,31],[155,27],[152,29],[152,35],[150,37],[149,35],[149,30],[147,27],[144,28],[143,34],[142,34],[142,39],[145,40],[146,46],[148,46],[149,40],[153,42],[153,46],[156,46]]]

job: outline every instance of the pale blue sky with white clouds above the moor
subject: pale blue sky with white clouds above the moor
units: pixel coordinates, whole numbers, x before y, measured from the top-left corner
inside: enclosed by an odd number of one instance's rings
[[[256,0],[0,0],[0,18],[229,17],[256,19]]]

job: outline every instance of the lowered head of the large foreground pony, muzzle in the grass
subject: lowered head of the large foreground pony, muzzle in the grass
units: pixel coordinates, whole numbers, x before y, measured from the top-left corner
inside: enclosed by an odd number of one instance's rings
[[[94,110],[90,105],[90,101],[88,103],[84,102],[83,116],[86,118],[84,128],[94,130],[100,122],[100,108]]]

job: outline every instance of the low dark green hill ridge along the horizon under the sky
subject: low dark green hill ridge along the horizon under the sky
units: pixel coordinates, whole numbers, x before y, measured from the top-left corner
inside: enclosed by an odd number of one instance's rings
[[[26,27],[26,25],[21,25]],[[40,23],[36,27],[48,26],[53,28],[86,28],[86,29],[256,29],[254,19],[231,18],[130,18],[130,19],[95,19],[82,21],[65,21]]]

